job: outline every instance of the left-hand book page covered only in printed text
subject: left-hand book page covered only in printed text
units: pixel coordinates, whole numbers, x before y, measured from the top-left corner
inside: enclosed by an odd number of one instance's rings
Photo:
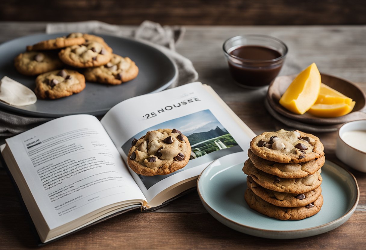
[[[107,205],[145,200],[92,115],[57,118],[6,143],[51,230]]]

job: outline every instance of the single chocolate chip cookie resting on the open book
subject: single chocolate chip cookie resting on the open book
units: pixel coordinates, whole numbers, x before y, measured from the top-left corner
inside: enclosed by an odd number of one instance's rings
[[[171,174],[186,166],[191,155],[187,137],[176,129],[149,131],[131,145],[128,166],[145,176]]]

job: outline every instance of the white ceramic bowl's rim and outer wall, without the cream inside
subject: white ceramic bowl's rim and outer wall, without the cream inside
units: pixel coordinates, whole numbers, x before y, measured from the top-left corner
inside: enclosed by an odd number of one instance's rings
[[[366,131],[366,120],[351,121],[343,124],[338,130],[336,155],[345,164],[358,171],[366,173],[366,152],[347,144],[345,132],[363,130]],[[359,143],[366,143],[360,139]]]

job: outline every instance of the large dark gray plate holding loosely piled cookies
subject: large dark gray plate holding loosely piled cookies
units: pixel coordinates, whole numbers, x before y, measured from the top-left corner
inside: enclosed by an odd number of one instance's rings
[[[37,34],[20,37],[0,45],[0,79],[8,76],[34,90],[36,77],[20,75],[14,68],[14,58],[25,51],[26,45],[60,37],[61,34]],[[164,90],[178,77],[175,64],[159,50],[134,39],[100,35],[113,53],[130,57],[139,67],[138,76],[127,83],[109,86],[86,83],[81,93],[56,100],[38,99],[33,105],[17,107],[0,102],[0,109],[41,117],[61,117],[70,114],[104,115],[117,103],[133,96]]]

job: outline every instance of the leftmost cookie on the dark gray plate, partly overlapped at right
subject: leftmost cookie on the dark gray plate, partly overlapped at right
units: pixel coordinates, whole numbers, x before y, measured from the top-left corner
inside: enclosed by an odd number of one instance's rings
[[[14,59],[16,70],[22,75],[35,76],[59,69],[64,64],[56,53],[30,51],[20,53]]]

